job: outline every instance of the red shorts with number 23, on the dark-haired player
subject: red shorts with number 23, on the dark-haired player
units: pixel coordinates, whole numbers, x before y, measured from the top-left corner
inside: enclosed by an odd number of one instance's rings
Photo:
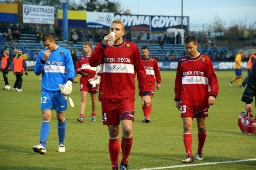
[[[180,117],[208,117],[209,106],[180,106],[181,115]]]

